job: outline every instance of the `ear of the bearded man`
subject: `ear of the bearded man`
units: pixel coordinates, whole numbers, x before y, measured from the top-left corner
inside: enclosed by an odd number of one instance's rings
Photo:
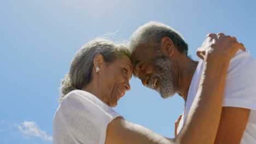
[[[170,38],[164,37],[161,39],[160,50],[163,55],[165,55],[167,57],[172,57],[175,49],[176,48]]]

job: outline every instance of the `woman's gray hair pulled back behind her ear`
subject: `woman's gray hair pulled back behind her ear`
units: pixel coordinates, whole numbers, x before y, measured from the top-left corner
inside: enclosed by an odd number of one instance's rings
[[[82,89],[92,80],[92,68],[94,67],[94,57],[101,54],[106,63],[111,63],[116,59],[127,56],[130,52],[124,44],[115,44],[113,41],[97,38],[82,46],[75,54],[71,62],[69,73],[65,75],[61,82],[62,98],[74,89]]]

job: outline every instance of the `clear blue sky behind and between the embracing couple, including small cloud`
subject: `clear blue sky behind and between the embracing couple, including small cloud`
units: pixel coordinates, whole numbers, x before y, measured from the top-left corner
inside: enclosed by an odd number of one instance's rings
[[[196,48],[211,32],[234,35],[256,57],[255,6],[255,1],[0,1],[0,143],[52,143],[60,80],[89,40],[102,35],[129,40],[154,20],[179,31],[193,59],[199,59]],[[161,99],[136,78],[130,84],[114,109],[173,137],[183,99]]]

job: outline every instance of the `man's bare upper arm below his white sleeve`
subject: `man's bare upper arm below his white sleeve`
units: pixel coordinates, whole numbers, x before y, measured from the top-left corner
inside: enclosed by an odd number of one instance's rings
[[[245,131],[250,110],[223,107],[215,143],[239,144]]]

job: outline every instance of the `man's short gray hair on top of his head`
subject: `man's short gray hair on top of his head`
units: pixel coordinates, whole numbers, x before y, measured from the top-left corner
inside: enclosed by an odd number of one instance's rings
[[[179,52],[188,55],[188,44],[185,43],[181,34],[173,28],[160,22],[148,22],[139,27],[130,38],[130,51],[133,52],[139,45],[160,47],[161,39],[168,37],[173,41]]]

